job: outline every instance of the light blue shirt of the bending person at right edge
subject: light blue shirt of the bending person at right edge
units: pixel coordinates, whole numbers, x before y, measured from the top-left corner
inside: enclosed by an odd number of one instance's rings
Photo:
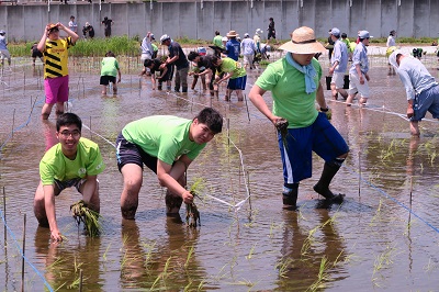
[[[405,87],[407,100],[412,100],[416,94],[438,85],[423,63],[413,57],[402,58],[397,72]]]

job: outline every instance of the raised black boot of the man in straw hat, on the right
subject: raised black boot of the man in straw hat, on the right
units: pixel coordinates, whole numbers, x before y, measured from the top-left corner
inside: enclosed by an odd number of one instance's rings
[[[341,193],[334,194],[329,190],[329,183],[337,173],[337,171],[340,169],[342,161],[344,160],[338,159],[338,161],[336,160],[333,162],[325,162],[325,166],[322,171],[322,177],[313,188],[314,191],[323,195],[326,200],[338,204],[344,201],[345,195]]]

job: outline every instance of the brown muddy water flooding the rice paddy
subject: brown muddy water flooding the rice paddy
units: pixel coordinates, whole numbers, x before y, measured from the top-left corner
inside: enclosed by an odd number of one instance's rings
[[[37,168],[45,149],[56,143],[55,121],[40,121],[41,67],[16,66],[4,72],[0,88],[0,183],[8,226],[7,239],[0,239],[1,290],[21,289],[24,215],[25,291],[42,291],[45,284],[76,290],[80,271],[85,291],[438,289],[438,123],[423,122],[421,137],[410,138],[407,121],[398,115],[405,112],[404,89],[397,76],[387,76],[383,59],[372,60],[368,108],[329,102],[333,123],[351,149],[333,183],[334,190],[347,194],[346,202],[325,206],[312,191],[323,166],[316,157],[314,177],[301,183],[299,212],[281,209],[275,134],[250,103],[237,102],[236,97],[230,103],[211,100],[201,91],[151,91],[133,63],[130,75],[122,63],[119,93],[102,97],[99,69],[87,63],[71,66],[70,110],[81,116],[83,136],[99,143],[106,164],[99,176],[103,234],[89,238],[78,229],[69,214],[69,205],[80,199],[74,190],[56,199],[67,240],[50,245],[48,229],[37,227],[32,210]],[[322,65],[327,70],[327,59]],[[432,59],[429,69],[437,76]],[[247,92],[257,76],[249,71]],[[330,92],[325,90],[325,96],[329,99]],[[266,100],[271,104],[269,93]],[[146,115],[191,119],[204,105],[218,109],[229,130],[189,170],[190,184],[204,181],[203,202],[198,201],[201,227],[185,226],[184,207],[180,218],[166,216],[165,192],[150,171],[144,175],[136,220],[123,221],[122,178],[113,146],[119,132]],[[229,206],[243,200],[240,209]]]

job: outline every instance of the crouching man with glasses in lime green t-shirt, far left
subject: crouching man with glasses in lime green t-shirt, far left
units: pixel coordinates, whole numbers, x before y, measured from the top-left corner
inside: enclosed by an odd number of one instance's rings
[[[56,121],[59,141],[40,162],[41,181],[35,192],[34,213],[40,225],[50,227],[50,238],[61,242],[56,222],[55,196],[75,187],[90,210],[100,211],[98,175],[105,169],[98,144],[81,137],[81,119],[75,113],[61,114]]]

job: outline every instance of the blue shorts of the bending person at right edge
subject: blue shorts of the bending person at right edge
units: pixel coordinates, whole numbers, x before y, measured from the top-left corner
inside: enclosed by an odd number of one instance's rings
[[[434,119],[439,119],[439,86],[430,87],[415,97],[414,116],[410,121],[420,121],[425,117],[427,111]]]

